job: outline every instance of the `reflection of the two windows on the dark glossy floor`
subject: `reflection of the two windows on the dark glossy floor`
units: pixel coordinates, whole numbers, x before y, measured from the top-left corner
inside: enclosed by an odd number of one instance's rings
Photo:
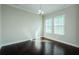
[[[55,45],[54,43],[45,43],[44,48],[44,54],[45,55],[63,55],[64,49],[58,45]]]

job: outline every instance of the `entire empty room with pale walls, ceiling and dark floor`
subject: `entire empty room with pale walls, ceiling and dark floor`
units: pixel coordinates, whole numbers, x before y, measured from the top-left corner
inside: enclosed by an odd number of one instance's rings
[[[79,55],[78,4],[0,4],[0,55]]]

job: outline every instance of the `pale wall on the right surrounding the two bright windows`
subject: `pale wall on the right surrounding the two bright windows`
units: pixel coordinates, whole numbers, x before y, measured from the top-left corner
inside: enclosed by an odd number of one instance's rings
[[[52,18],[57,15],[65,15],[65,34],[64,35],[55,35],[54,32],[52,34],[48,34],[44,32],[44,37],[50,38],[52,40],[64,42],[70,45],[74,45],[79,47],[79,41],[77,36],[77,6],[73,5],[63,10],[57,11],[55,13],[51,13],[45,15],[45,19]],[[78,16],[79,17],[79,16]]]

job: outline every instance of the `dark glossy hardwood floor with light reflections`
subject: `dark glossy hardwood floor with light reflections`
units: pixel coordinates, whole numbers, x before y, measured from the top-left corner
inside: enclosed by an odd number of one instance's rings
[[[46,39],[29,40],[3,46],[1,55],[79,55],[79,48]]]

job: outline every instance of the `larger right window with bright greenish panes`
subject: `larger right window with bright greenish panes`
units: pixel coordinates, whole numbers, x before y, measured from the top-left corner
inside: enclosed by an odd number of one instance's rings
[[[54,17],[54,33],[64,35],[64,15]]]

